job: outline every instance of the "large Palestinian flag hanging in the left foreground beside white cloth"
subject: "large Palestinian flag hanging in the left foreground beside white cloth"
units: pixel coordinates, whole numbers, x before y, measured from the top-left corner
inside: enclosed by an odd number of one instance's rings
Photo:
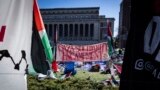
[[[39,11],[37,0],[33,5],[33,34],[31,47],[32,64],[37,73],[47,74],[50,69],[48,60],[52,63],[53,55],[44,23]]]

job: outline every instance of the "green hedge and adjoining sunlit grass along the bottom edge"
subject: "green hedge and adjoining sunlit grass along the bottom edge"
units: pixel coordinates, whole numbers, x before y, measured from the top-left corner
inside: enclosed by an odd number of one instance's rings
[[[58,73],[61,76],[61,73]],[[90,80],[87,80],[88,77]],[[118,87],[105,86],[100,83],[109,77],[100,72],[88,72],[81,69],[77,70],[74,77],[65,80],[45,79],[37,80],[34,76],[28,76],[28,90],[118,90]]]

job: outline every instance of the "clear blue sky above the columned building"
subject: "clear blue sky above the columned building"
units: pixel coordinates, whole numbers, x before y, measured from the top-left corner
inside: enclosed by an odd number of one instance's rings
[[[100,15],[115,18],[114,36],[118,32],[121,0],[38,0],[40,8],[100,7]]]

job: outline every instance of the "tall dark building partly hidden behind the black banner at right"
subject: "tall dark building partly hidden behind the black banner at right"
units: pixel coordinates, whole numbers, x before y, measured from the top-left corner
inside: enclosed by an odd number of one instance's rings
[[[130,29],[131,0],[122,0],[119,12],[118,47],[125,48]]]

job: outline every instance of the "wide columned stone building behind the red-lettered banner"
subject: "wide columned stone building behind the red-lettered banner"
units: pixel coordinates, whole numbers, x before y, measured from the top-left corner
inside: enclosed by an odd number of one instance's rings
[[[86,45],[105,41],[107,20],[111,21],[112,32],[114,18],[99,15],[99,7],[87,8],[49,8],[40,9],[45,28],[52,45]]]

